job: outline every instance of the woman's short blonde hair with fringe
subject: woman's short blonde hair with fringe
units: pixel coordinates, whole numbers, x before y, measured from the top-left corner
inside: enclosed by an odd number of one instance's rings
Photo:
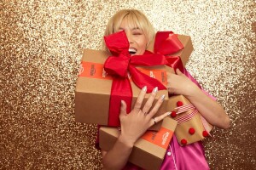
[[[140,28],[147,37],[149,44],[154,37],[154,27],[149,22],[145,14],[137,9],[122,9],[114,14],[113,17],[108,20],[108,25],[106,27],[104,36],[108,36],[119,31],[119,26],[124,19],[127,19],[132,26],[137,26]],[[104,41],[102,46],[105,50],[107,49]]]

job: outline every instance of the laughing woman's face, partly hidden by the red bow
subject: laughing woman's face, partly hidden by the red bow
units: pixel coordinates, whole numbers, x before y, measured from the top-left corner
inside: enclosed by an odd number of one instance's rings
[[[131,55],[144,54],[147,48],[148,39],[140,28],[132,25],[125,18],[119,26],[119,31],[125,31],[126,37],[130,43],[129,52]]]

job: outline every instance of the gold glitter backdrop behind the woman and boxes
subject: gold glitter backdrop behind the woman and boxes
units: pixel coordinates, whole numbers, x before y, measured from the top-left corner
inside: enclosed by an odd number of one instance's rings
[[[212,169],[256,168],[256,4],[250,0],[0,2],[0,168],[101,169],[96,125],[74,121],[83,48],[100,49],[108,19],[142,10],[156,30],[192,38],[187,65],[231,118],[204,141]]]

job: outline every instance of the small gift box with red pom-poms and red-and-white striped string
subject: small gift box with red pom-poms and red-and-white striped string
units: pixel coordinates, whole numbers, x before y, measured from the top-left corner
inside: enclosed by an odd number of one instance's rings
[[[183,107],[185,109],[180,109],[180,111],[183,110],[181,113],[173,117],[173,119],[177,120],[175,135],[179,144],[192,144],[205,139],[207,133],[212,130],[212,125],[209,124],[197,110],[188,106],[190,102],[183,95],[175,95],[170,98],[171,111],[178,111],[177,102],[182,102],[183,106],[187,105],[186,108]]]

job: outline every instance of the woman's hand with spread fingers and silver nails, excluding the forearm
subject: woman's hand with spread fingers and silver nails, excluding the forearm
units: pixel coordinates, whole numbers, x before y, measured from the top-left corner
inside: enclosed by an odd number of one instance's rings
[[[156,122],[160,122],[166,116],[170,115],[169,112],[161,116],[154,117],[155,113],[159,110],[160,105],[163,103],[165,95],[160,96],[160,99],[153,106],[158,88],[154,88],[150,94],[148,101],[143,106],[143,99],[145,97],[147,87],[144,87],[137,98],[133,110],[127,114],[125,101],[121,101],[121,111],[119,119],[121,122],[121,133],[119,139],[128,146],[133,144],[145,133],[148,127],[151,127]],[[151,107],[153,107],[151,109]],[[151,109],[151,110],[150,110]],[[154,117],[154,118],[153,118]]]

